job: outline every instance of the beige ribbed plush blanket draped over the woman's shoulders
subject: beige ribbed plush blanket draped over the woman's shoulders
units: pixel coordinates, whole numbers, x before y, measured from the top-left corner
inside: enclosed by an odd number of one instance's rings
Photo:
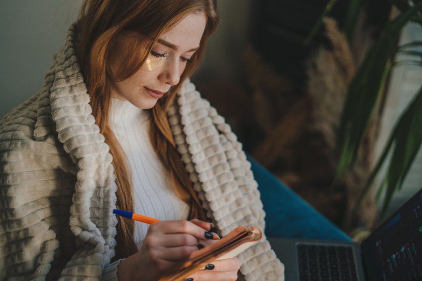
[[[0,279],[98,280],[114,256],[117,219],[112,156],[91,115],[73,28],[46,84],[0,121]],[[241,144],[185,81],[168,119],[209,217],[226,235],[264,228],[257,183]],[[241,253],[246,280],[283,280],[264,240]]]

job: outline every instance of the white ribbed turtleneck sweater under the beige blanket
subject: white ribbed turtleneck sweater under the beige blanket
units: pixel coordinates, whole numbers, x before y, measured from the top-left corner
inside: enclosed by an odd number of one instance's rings
[[[186,219],[189,207],[171,189],[168,172],[164,171],[152,147],[148,113],[127,100],[113,98],[110,124],[132,170],[134,212],[160,220]],[[135,243],[138,248],[142,245],[148,226],[135,222]]]

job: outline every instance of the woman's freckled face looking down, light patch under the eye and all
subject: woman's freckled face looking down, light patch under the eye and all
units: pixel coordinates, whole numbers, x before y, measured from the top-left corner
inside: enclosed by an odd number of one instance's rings
[[[169,31],[163,33],[153,46],[147,61],[129,78],[115,82],[112,96],[128,100],[139,108],[148,109],[179,83],[190,58],[199,48],[205,29],[205,15],[192,13]],[[135,39],[122,35],[110,54],[111,70],[116,73],[127,61],[128,46]]]

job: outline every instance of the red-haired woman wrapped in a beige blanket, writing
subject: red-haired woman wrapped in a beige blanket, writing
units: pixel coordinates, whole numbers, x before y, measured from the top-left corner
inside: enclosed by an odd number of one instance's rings
[[[43,89],[0,123],[0,279],[156,280],[213,225],[264,227],[241,145],[188,80],[217,23],[212,0],[83,3]],[[189,280],[239,267],[283,279],[262,241]]]

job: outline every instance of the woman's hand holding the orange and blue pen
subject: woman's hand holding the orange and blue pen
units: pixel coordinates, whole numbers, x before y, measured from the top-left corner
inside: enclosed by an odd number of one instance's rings
[[[119,280],[157,280],[207,240],[211,223],[200,220],[159,221],[149,226],[139,251],[122,260]],[[205,237],[205,235],[208,236]]]

